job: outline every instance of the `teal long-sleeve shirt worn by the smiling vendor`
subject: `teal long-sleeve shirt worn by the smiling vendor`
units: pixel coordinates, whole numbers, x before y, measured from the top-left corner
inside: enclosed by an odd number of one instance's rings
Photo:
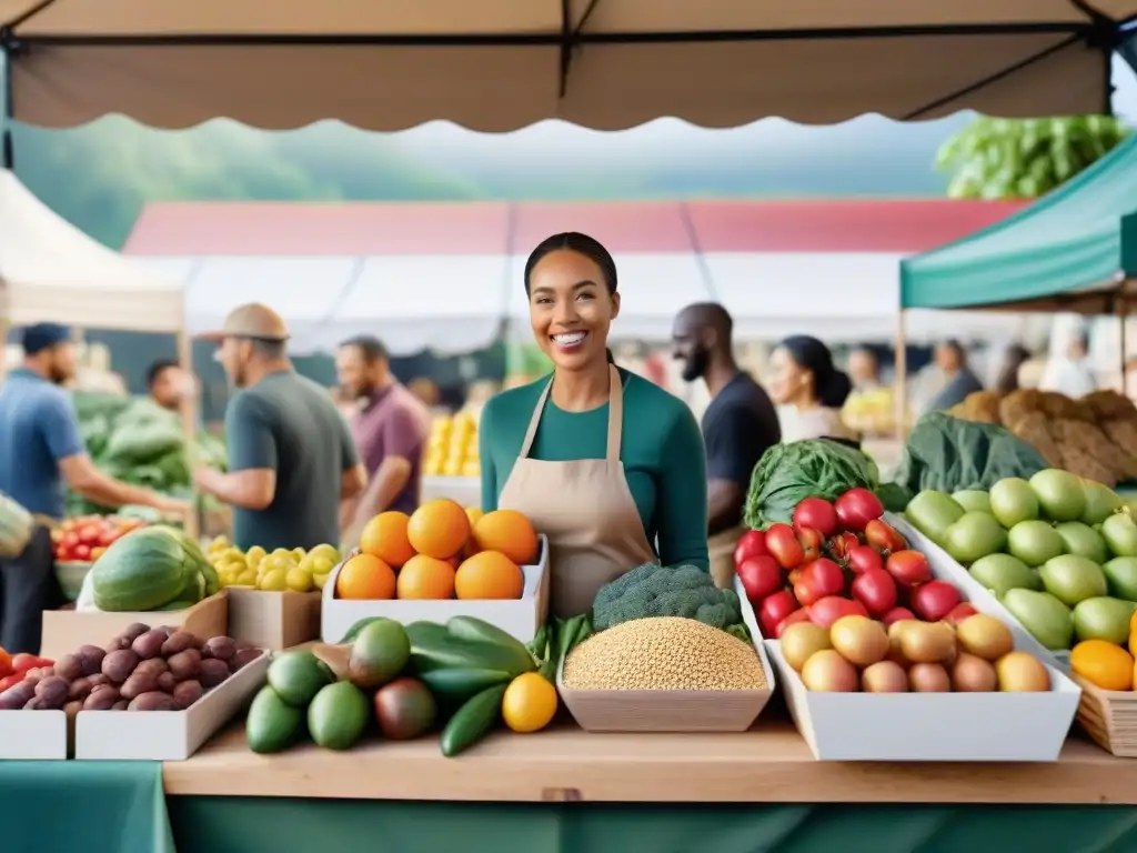
[[[624,386],[620,461],[647,540],[663,565],[687,563],[709,571],[706,450],[695,415],[686,403],[646,379],[623,370],[620,376]],[[497,508],[548,381],[503,391],[482,411],[479,452],[485,512]],[[607,430],[608,404],[590,412],[565,412],[550,398],[530,457],[603,459]]]

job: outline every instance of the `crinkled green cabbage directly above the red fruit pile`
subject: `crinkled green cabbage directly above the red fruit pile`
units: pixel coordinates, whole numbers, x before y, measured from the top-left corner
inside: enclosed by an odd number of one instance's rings
[[[750,475],[742,520],[752,530],[789,523],[807,497],[836,500],[854,487],[877,489],[877,464],[860,450],[824,438],[774,445]]]

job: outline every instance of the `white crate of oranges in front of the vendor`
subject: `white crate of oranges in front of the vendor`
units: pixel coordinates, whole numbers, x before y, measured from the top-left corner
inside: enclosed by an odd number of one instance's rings
[[[522,513],[429,500],[412,515],[380,513],[359,549],[324,585],[322,633],[339,643],[360,619],[404,624],[476,616],[522,643],[548,611],[548,541]]]

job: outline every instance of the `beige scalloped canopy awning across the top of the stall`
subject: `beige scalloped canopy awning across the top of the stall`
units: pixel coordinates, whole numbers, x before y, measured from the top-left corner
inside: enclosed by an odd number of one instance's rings
[[[0,0],[16,118],[619,130],[1109,109],[1137,0]]]

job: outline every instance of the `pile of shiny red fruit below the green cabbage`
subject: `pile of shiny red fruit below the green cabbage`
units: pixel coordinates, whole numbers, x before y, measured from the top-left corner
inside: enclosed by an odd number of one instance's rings
[[[832,504],[806,498],[792,525],[742,535],[735,571],[764,637],[780,637],[795,622],[829,628],[850,615],[891,624],[957,622],[976,613],[954,585],[932,578],[928,558],[910,549],[883,514],[869,489],[849,489]]]

